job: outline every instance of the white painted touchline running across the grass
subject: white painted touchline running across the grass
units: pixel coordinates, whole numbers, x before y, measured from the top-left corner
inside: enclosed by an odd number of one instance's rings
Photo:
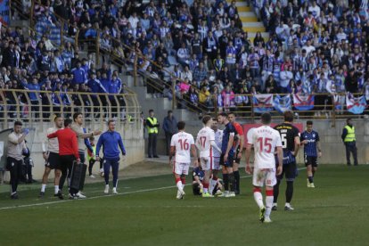
[[[299,168],[299,170],[303,170],[303,169],[306,169],[306,168]],[[251,175],[241,176],[240,178],[246,178],[246,177],[251,177]],[[87,197],[86,199],[79,199],[79,200],[47,201],[47,202],[41,202],[41,203],[24,204],[24,205],[19,205],[19,206],[9,206],[9,207],[0,208],[0,210],[37,207],[37,206],[51,205],[51,204],[56,204],[56,203],[61,203],[61,202],[70,202],[70,201],[86,201],[86,200],[93,200],[93,199],[119,196],[119,195],[125,195],[125,194],[154,192],[154,191],[167,190],[167,189],[172,189],[172,188],[176,188],[176,185],[159,187],[159,188],[152,188],[152,189],[143,189],[143,190],[132,191],[132,192],[127,192],[127,193],[98,195],[98,196]]]

